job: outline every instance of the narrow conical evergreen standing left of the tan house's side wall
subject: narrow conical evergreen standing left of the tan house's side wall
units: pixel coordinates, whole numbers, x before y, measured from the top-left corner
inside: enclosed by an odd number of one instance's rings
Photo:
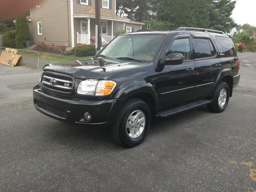
[[[27,18],[25,15],[18,16],[16,19],[16,47],[24,48],[26,41],[31,39]]]

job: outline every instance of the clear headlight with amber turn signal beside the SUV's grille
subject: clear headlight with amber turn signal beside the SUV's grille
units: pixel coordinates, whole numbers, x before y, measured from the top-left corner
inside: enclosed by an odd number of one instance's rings
[[[116,87],[115,81],[88,79],[81,81],[77,88],[80,95],[109,95]]]

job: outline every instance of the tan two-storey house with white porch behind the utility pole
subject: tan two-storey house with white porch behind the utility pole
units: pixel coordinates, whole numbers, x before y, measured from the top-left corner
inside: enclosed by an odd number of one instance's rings
[[[143,23],[115,15],[116,0],[100,0],[101,35],[105,44],[115,32],[132,32]],[[67,45],[91,44],[95,40],[95,0],[45,0],[31,9],[34,42]]]

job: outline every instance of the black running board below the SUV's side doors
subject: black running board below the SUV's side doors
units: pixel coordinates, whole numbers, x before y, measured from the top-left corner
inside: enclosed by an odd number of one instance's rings
[[[177,113],[182,113],[188,110],[192,110],[195,108],[198,108],[199,106],[205,105],[205,104],[209,104],[211,103],[211,100],[208,99],[202,99],[202,100],[198,100],[195,102],[191,102],[191,103],[187,103],[181,106],[178,106],[177,108],[173,108],[173,109],[169,109],[166,111],[162,111],[162,112],[158,112],[156,114],[156,117],[160,117],[160,118],[165,118],[171,115],[175,115]]]

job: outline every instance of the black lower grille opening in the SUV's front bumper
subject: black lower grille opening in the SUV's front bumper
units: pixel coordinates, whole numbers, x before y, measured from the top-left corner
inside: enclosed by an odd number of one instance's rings
[[[63,110],[61,108],[58,108],[57,106],[50,105],[45,102],[37,101],[35,104],[38,108],[43,109],[49,113],[52,113],[54,115],[57,115],[59,117],[67,119],[68,112],[67,110]]]

